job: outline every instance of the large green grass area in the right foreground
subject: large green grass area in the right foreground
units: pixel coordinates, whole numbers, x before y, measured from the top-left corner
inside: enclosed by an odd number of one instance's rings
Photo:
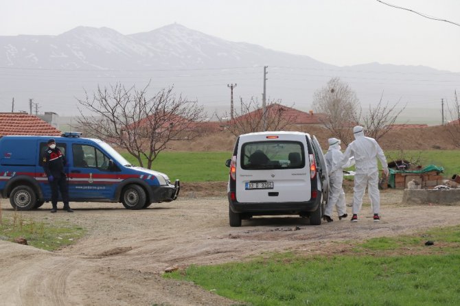
[[[425,246],[427,240],[435,244]],[[192,281],[240,305],[458,305],[459,247],[455,226],[369,239],[341,255],[266,255],[165,277]]]

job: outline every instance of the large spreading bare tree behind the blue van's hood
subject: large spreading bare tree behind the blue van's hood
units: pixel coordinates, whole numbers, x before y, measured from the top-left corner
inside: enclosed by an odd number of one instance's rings
[[[78,123],[89,135],[127,150],[141,167],[146,158],[146,167],[151,169],[169,141],[198,137],[204,115],[203,106],[176,97],[172,87],[147,97],[149,85],[141,90],[126,89],[121,83],[103,89],[98,86],[91,97],[85,91],[86,99],[78,103],[91,115],[84,115],[78,107]]]

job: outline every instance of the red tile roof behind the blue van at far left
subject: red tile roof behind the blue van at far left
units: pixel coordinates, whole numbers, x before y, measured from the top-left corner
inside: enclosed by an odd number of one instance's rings
[[[42,119],[24,113],[0,113],[0,137],[5,135],[59,136],[61,132]]]

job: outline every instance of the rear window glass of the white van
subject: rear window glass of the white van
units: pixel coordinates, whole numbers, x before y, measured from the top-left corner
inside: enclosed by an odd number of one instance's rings
[[[242,169],[298,169],[304,156],[298,141],[256,141],[242,145],[240,163]]]

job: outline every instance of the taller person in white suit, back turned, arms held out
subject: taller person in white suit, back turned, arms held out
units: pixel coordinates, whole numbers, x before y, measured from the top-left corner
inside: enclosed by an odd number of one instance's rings
[[[388,177],[387,158],[383,154],[382,148],[378,145],[376,139],[365,137],[362,126],[353,128],[355,140],[347,146],[347,150],[333,168],[332,172],[341,170],[351,156],[354,156],[356,163],[356,174],[354,176],[353,189],[353,217],[352,222],[358,221],[358,213],[363,204],[363,196],[367,186],[367,193],[371,200],[373,210],[373,220],[379,221],[380,216],[380,192],[378,191],[378,165],[377,158],[382,163],[384,174]]]

